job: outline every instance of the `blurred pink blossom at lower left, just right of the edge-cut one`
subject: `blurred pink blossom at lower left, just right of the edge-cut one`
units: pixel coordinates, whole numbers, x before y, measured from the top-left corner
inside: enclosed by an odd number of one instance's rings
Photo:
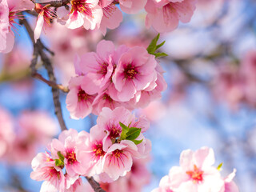
[[[44,111],[25,111],[18,117],[18,130],[6,158],[30,163],[39,146],[45,146],[58,133],[58,124]]]

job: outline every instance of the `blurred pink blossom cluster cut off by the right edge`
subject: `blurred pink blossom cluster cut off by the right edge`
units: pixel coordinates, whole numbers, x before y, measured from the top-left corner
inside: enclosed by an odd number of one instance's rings
[[[256,50],[244,54],[239,65],[222,59],[218,75],[214,79],[214,96],[226,100],[232,110],[237,110],[241,103],[256,105]],[[218,93],[225,94],[218,94]]]

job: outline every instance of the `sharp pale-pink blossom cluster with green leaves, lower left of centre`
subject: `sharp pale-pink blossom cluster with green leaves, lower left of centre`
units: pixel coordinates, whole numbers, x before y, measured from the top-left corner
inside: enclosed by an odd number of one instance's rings
[[[41,191],[53,192],[84,187],[80,176],[113,182],[131,170],[134,158],[148,156],[151,143],[142,134],[148,128],[146,118],[136,119],[124,107],[103,108],[90,133],[70,129],[53,139],[33,159],[30,177],[44,180]]]

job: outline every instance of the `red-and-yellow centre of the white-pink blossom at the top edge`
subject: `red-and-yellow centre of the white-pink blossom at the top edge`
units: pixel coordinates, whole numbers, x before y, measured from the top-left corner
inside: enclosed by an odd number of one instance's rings
[[[90,3],[87,3],[86,0],[71,0],[70,2],[72,8],[70,14],[74,12],[80,12],[82,14],[88,15],[90,18],[94,18]]]

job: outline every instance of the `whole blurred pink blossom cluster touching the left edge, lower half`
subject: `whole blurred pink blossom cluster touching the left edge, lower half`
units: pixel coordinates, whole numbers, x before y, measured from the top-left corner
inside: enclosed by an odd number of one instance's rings
[[[27,163],[39,146],[45,146],[58,133],[58,126],[43,111],[24,111],[16,119],[0,108],[0,158],[9,163]]]

